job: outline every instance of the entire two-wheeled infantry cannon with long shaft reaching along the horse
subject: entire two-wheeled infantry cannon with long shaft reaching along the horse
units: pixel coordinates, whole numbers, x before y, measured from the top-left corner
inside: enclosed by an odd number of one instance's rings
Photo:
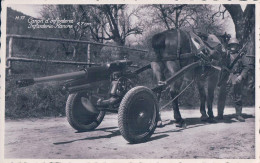
[[[152,89],[135,86],[133,82],[138,74],[151,69],[150,64],[130,71],[129,67],[133,64],[130,60],[118,60],[66,74],[22,79],[16,84],[18,87],[26,87],[43,82],[64,81],[62,90],[69,93],[66,117],[74,129],[94,130],[106,112],[116,112],[122,136],[130,143],[138,143],[148,140],[156,128],[159,114],[156,93],[166,89],[187,71],[208,65],[207,56],[201,55],[197,56],[199,61],[183,67],[165,83]]]

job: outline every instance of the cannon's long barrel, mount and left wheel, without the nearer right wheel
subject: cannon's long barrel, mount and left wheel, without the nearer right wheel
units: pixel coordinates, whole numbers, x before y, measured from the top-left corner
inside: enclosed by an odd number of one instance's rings
[[[131,79],[150,68],[147,65],[132,72],[129,70],[129,67],[133,66],[132,63],[130,60],[118,60],[77,72],[22,79],[16,84],[18,87],[26,87],[44,82],[64,81],[62,90],[69,93],[66,103],[67,119],[76,130],[88,131],[101,123],[105,111],[118,111],[123,96],[134,85]],[[100,91],[101,85],[106,85],[107,89]]]

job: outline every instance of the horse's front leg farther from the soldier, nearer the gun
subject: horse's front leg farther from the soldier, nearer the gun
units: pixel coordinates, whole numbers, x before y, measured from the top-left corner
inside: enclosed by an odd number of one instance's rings
[[[205,79],[198,78],[196,84],[200,95],[200,113],[201,113],[200,119],[201,121],[206,121],[208,120],[208,116],[205,109],[205,103],[206,103],[206,91],[204,89]]]

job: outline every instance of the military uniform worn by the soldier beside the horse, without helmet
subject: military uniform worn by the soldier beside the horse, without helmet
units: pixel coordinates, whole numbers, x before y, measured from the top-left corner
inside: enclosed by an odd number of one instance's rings
[[[238,43],[237,43],[238,44]],[[226,66],[230,66],[235,58],[239,55],[238,50],[227,51],[226,58]],[[248,60],[246,55],[242,55],[237,62],[234,64],[230,72],[229,77],[226,81],[223,81],[220,86],[219,97],[218,97],[218,118],[223,119],[226,95],[231,91],[233,95],[233,101],[236,109],[236,118],[239,121],[244,121],[242,117],[242,93],[243,93],[243,85],[245,83],[245,79],[247,77],[247,73],[249,71]]]

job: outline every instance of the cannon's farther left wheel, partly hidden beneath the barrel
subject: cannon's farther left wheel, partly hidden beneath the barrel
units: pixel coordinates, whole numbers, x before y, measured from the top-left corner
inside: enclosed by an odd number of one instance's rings
[[[90,131],[97,128],[104,116],[105,111],[100,111],[97,114],[87,111],[81,104],[81,97],[87,97],[86,92],[78,92],[70,94],[66,102],[66,117],[71,125],[77,131]],[[82,121],[88,121],[83,123]]]

